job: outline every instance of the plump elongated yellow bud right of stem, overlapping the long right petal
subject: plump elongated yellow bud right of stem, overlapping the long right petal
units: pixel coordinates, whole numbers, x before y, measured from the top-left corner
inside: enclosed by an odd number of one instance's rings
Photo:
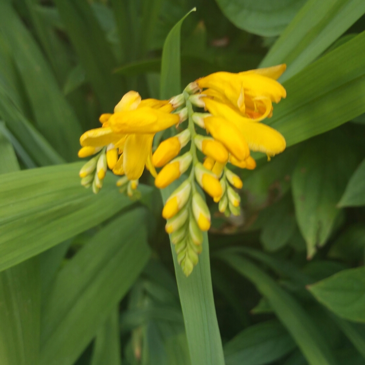
[[[242,133],[231,121],[219,117],[206,117],[204,123],[207,131],[238,160],[244,160],[250,154]]]

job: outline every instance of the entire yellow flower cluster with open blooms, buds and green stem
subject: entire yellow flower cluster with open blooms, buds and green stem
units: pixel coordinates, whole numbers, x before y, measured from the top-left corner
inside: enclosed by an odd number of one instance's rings
[[[170,100],[141,100],[137,92],[129,91],[113,114],[100,117],[102,128],[81,136],[79,156],[96,154],[80,171],[82,184],[92,185],[97,193],[108,167],[117,175],[125,175],[118,185],[133,196],[145,166],[160,189],[191,167],[162,212],[177,260],[188,276],[202,250],[202,232],[211,225],[209,209],[196,182],[218,203],[220,212],[239,215],[240,196],[235,189],[243,184],[227,164],[252,170],[256,162],[250,151],[264,152],[270,159],[285,149],[283,136],[259,123],[272,116],[272,103],[286,96],[276,81],[284,70],[285,64],[281,64],[237,74],[216,72],[189,84]],[[194,107],[204,108],[204,112]],[[187,119],[188,126],[161,142],[152,154],[155,133],[177,127]],[[197,133],[196,126],[206,133]],[[188,143],[189,150],[180,155]],[[202,161],[197,150],[205,156]],[[161,170],[157,173],[156,168]]]

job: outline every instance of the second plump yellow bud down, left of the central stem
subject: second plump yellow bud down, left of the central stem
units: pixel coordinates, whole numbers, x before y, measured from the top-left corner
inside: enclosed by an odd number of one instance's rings
[[[192,163],[193,157],[190,152],[186,152],[180,157],[175,158],[158,173],[154,180],[156,188],[163,189],[180,177],[182,173],[188,170]]]

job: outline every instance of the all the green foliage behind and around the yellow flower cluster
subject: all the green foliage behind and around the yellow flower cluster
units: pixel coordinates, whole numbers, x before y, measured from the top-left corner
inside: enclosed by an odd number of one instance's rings
[[[364,13],[0,0],[0,364],[365,364]],[[79,137],[130,89],[170,98],[279,63],[288,96],[267,123],[288,147],[241,173],[241,216],[207,200],[209,246],[189,278],[174,273],[151,177],[138,202],[111,174],[92,194]]]

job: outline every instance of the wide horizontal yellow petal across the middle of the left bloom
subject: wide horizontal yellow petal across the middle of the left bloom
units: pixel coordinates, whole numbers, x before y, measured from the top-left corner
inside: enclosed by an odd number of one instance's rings
[[[156,133],[178,124],[177,114],[165,113],[150,107],[114,113],[108,123],[116,133]]]

